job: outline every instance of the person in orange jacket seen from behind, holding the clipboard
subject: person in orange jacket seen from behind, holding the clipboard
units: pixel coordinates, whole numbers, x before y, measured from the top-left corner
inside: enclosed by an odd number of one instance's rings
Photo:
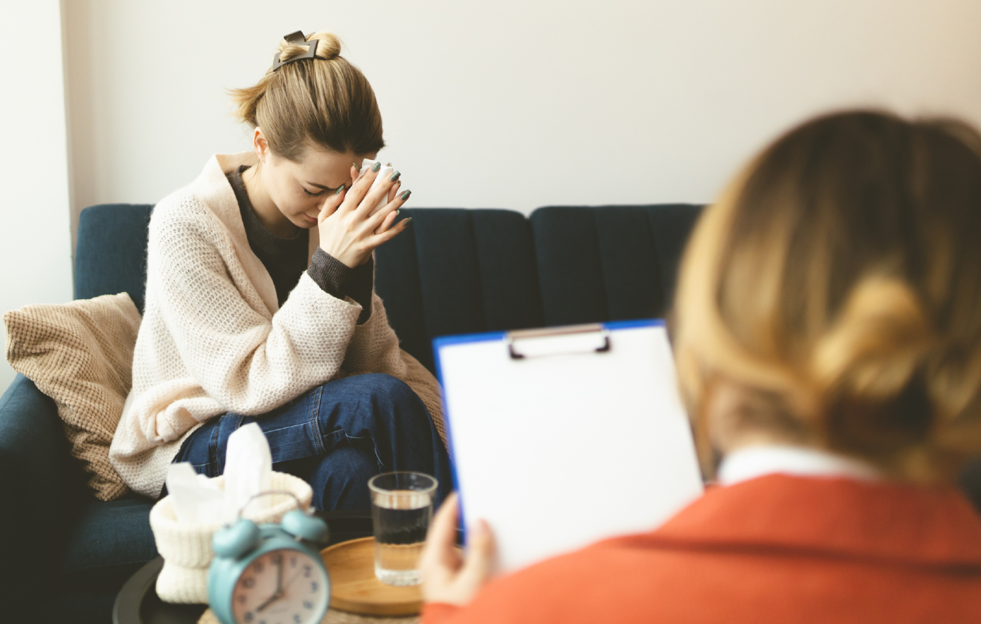
[[[849,112],[791,130],[699,220],[672,314],[704,496],[490,580],[449,500],[425,624],[981,622],[981,135]]]

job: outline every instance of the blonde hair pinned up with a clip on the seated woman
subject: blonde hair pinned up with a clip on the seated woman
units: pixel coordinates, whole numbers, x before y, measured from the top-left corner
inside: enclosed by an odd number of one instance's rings
[[[331,32],[306,35],[317,40],[315,58],[275,68],[254,86],[232,89],[234,118],[261,127],[274,154],[299,162],[307,149],[374,154],[385,147],[382,113],[368,78],[340,56],[340,39]],[[289,61],[308,46],[281,40],[279,58]]]

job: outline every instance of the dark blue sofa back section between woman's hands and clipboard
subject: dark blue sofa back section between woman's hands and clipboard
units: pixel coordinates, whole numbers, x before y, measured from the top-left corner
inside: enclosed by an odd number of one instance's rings
[[[433,338],[542,324],[528,219],[503,210],[405,209],[375,252],[375,288],[401,347],[434,370]]]

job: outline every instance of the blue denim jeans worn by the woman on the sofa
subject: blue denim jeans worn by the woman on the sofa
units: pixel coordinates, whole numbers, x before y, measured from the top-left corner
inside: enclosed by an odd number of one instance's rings
[[[229,436],[250,422],[266,434],[273,469],[309,483],[318,509],[370,508],[368,479],[391,470],[435,476],[438,505],[450,492],[449,456],[429,411],[389,375],[338,379],[260,416],[215,416],[184,440],[174,461],[189,461],[209,477],[222,474]]]

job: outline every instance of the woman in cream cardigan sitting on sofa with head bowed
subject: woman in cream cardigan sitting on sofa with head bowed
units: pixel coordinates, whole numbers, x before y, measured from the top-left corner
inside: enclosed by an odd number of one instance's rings
[[[156,498],[172,461],[221,474],[229,436],[254,421],[317,508],[370,507],[367,481],[387,470],[433,474],[444,493],[439,386],[374,294],[372,252],[409,225],[395,222],[409,191],[397,171],[369,191],[377,166],[353,181],[385,141],[336,37],[287,37],[259,83],[234,91],[253,151],[212,157],[153,211],[110,458]]]

